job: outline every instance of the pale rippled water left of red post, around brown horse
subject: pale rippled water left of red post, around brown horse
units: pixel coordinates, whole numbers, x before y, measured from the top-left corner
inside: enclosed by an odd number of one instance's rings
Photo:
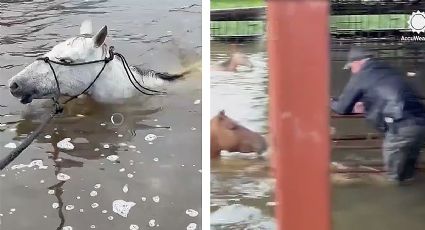
[[[220,110],[243,126],[267,132],[267,53],[264,42],[239,47],[253,71],[211,72],[211,117]],[[226,60],[229,45],[211,43],[211,62]],[[211,164],[212,229],[275,229],[274,180],[268,163],[252,157],[222,157]]]

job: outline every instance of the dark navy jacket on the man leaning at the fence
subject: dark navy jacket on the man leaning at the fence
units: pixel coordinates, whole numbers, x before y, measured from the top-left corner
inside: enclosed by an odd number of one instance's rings
[[[392,120],[391,125],[411,125],[406,121],[425,125],[425,107],[414,90],[401,73],[378,60],[366,61],[331,107],[336,113],[350,114],[359,101],[364,104],[366,119],[383,132],[389,128],[385,120]]]

